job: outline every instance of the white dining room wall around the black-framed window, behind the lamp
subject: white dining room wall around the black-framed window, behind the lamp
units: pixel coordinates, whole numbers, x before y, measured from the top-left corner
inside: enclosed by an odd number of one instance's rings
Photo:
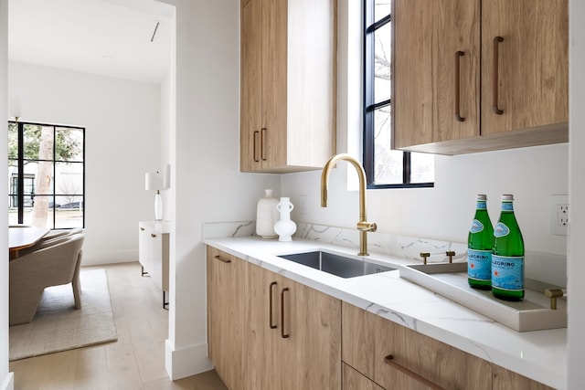
[[[144,173],[160,169],[160,85],[13,62],[8,78],[23,121],[86,129],[83,265],[136,261],[138,221],[154,218]]]

